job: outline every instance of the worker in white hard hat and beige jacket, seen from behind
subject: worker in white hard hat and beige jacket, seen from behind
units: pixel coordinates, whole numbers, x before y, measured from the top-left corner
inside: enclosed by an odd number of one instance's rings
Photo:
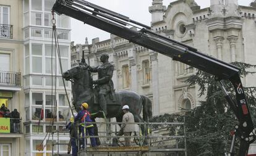
[[[129,109],[129,105],[124,105],[122,107],[122,112],[124,112],[124,115],[122,116],[122,125],[117,136],[131,136],[132,132],[135,131],[134,124],[130,124],[134,123],[134,115],[129,112]],[[126,146],[130,146],[130,138],[124,138],[124,140],[126,141]]]

